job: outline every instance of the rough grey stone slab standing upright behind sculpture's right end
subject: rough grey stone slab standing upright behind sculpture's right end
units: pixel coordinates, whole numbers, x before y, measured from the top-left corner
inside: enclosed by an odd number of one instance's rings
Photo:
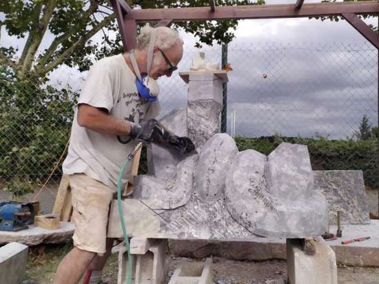
[[[329,223],[337,223],[338,210],[342,211],[342,224],[370,223],[369,199],[361,170],[314,171],[314,185],[327,198]]]

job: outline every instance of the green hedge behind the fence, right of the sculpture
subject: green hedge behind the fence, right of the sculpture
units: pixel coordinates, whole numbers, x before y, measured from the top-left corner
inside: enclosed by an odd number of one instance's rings
[[[239,151],[254,149],[263,154],[272,152],[281,142],[308,146],[313,170],[362,170],[365,185],[378,187],[378,140],[354,141],[292,138],[292,137],[236,137]]]

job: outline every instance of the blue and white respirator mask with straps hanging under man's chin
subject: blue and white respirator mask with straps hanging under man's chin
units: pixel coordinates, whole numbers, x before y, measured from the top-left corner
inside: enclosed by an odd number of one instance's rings
[[[159,94],[158,83],[156,83],[156,81],[148,75],[150,73],[150,69],[152,68],[155,39],[156,30],[153,28],[152,33],[150,34],[149,48],[147,49],[147,74],[143,74],[141,76],[139,66],[137,64],[136,58],[134,57],[134,52],[131,52],[129,55],[130,61],[132,61],[134,72],[136,73],[136,87],[139,95],[149,103],[153,103]]]

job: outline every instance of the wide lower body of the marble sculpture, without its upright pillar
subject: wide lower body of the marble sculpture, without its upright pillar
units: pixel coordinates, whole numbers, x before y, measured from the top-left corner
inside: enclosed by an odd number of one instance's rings
[[[298,151],[306,150],[303,145],[284,143],[276,152],[280,154],[276,156],[274,152],[272,159],[254,150],[236,154],[235,147],[227,134],[216,134],[199,154],[178,164],[176,180],[153,176],[137,179],[134,199],[123,201],[125,212],[129,212],[124,218],[130,235],[247,241],[257,235],[304,238],[327,231],[325,196],[310,186],[313,174],[305,172],[305,162],[294,163],[296,159],[306,161],[307,156],[309,159],[307,151]],[[280,163],[283,169],[275,166]],[[267,174],[270,167],[275,171]],[[290,184],[283,188],[287,188],[291,198],[284,196],[274,187],[278,185],[277,176],[285,176],[283,171],[290,173],[289,179],[310,185],[301,189],[283,179],[283,183]],[[299,172],[304,172],[303,181]],[[291,195],[292,189],[298,192],[297,196]],[[117,219],[112,204],[109,237],[121,236]],[[140,225],[141,220],[144,225]]]

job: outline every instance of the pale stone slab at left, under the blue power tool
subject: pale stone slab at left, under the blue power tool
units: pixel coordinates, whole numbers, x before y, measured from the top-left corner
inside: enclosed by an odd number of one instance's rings
[[[0,244],[23,243],[24,245],[39,245],[40,243],[66,243],[74,234],[75,225],[71,222],[61,222],[56,230],[43,229],[28,225],[29,228],[18,232],[0,231]]]

